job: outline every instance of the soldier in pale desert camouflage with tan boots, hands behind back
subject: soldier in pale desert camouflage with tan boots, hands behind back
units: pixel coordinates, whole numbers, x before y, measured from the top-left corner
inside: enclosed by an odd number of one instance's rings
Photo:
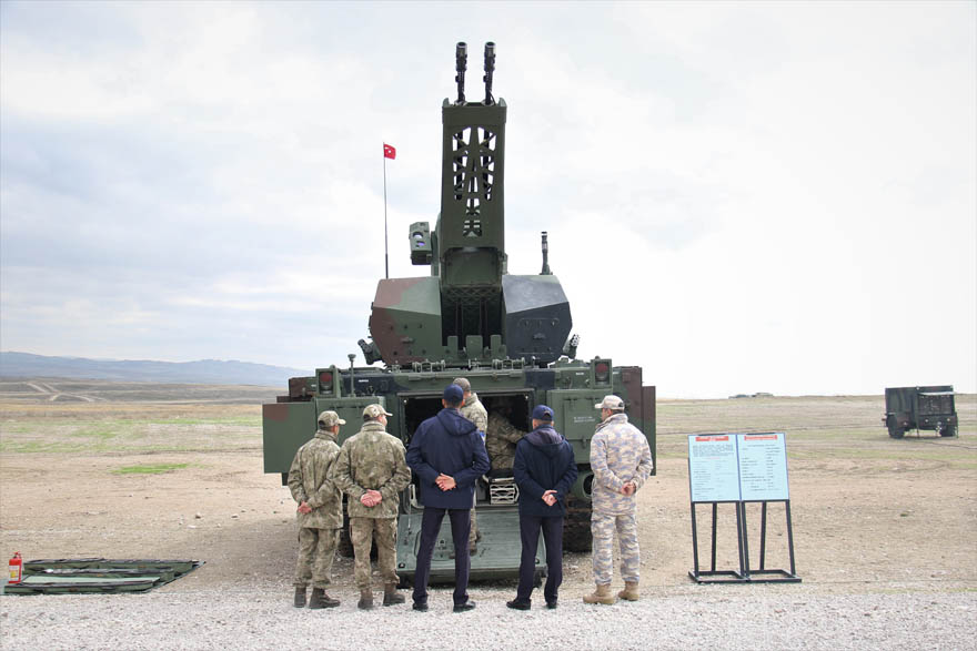
[[[594,405],[601,409],[597,431],[591,439],[591,468],[594,471],[591,531],[594,535],[594,582],[596,589],[585,603],[614,603],[611,593],[614,530],[621,545],[621,576],[627,601],[638,600],[641,550],[637,545],[635,494],[652,474],[652,450],[641,430],[627,421],[624,400],[606,396]]]

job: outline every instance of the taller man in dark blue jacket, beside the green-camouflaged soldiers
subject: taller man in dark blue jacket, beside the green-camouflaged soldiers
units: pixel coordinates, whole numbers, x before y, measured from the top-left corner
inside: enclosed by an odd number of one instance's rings
[[[424,503],[414,573],[414,610],[427,610],[431,558],[445,512],[454,540],[454,612],[475,608],[469,599],[469,530],[475,481],[488,471],[488,454],[475,425],[459,413],[463,401],[462,387],[445,388],[441,400],[444,408],[417,427],[407,448],[407,466],[421,480]]]

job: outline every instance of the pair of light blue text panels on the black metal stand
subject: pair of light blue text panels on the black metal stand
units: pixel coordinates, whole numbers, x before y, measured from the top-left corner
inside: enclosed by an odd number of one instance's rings
[[[693,502],[790,499],[784,434],[689,435],[688,489]]]

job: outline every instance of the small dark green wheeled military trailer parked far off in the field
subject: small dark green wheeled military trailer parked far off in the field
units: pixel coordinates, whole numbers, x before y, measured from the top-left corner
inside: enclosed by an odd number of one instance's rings
[[[907,429],[935,430],[940,436],[957,436],[957,408],[951,385],[894,387],[886,389],[886,415],[882,421],[893,438],[903,438]]]

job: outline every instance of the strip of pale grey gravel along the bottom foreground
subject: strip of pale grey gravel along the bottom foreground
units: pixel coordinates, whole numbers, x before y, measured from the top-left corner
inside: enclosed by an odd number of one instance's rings
[[[878,587],[876,587],[878,588]],[[292,608],[290,593],[161,590],[144,594],[0,599],[4,651],[37,649],[977,649],[977,593],[812,593],[802,586],[691,586],[636,603],[511,611],[510,589],[471,593],[451,612],[449,589],[431,610]]]

